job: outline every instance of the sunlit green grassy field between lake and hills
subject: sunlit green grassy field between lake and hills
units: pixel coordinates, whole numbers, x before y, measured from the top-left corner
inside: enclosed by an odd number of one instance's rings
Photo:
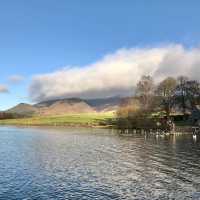
[[[67,114],[62,116],[36,116],[31,118],[0,120],[0,125],[24,126],[100,126],[114,118],[113,113]]]

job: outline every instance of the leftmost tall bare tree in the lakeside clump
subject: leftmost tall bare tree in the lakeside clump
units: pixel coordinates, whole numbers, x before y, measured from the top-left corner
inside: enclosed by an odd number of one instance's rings
[[[148,110],[152,102],[154,91],[154,81],[151,76],[142,76],[136,87],[136,96],[138,97],[142,108]]]

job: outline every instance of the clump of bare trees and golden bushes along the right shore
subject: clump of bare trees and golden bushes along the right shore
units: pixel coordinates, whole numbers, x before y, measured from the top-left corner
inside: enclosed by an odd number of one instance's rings
[[[117,111],[117,124],[124,128],[163,128],[176,115],[183,121],[199,111],[200,83],[185,76],[167,77],[155,83],[151,76],[142,76],[135,94],[122,102]],[[195,119],[196,121],[198,119]],[[193,123],[195,123],[194,121]]]

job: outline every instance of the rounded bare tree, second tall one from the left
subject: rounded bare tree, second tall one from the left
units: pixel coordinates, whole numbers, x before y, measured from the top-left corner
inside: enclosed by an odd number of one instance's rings
[[[174,106],[174,92],[177,86],[176,79],[168,77],[160,82],[156,89],[156,95],[160,98],[160,106],[165,111],[167,119]]]

